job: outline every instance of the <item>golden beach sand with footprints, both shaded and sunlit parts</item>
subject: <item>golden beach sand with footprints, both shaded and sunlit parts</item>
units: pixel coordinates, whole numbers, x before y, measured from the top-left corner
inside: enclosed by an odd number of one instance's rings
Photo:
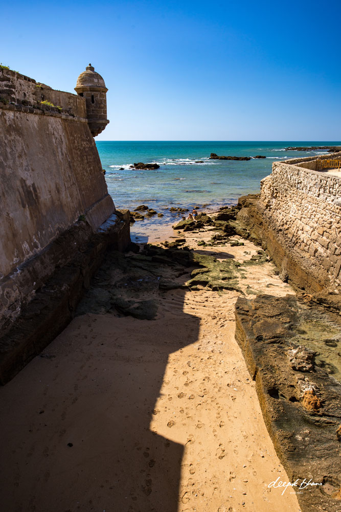
[[[271,263],[245,272],[247,296],[293,293]],[[238,295],[177,289],[154,321],[74,318],[0,389],[2,509],[299,512],[291,489],[268,488],[288,477],[235,341]]]

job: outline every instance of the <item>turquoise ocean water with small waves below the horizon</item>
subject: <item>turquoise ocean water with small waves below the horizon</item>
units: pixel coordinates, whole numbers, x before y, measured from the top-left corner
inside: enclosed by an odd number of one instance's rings
[[[140,204],[164,217],[137,221],[132,238],[145,241],[151,232],[181,216],[172,206],[207,211],[236,204],[240,196],[257,193],[260,181],[271,173],[272,162],[313,156],[325,151],[286,151],[288,146],[341,145],[326,141],[98,141],[108,190],[117,208],[135,209]],[[209,160],[210,153],[225,156],[264,155],[248,161]],[[199,162],[200,161],[200,162]],[[134,162],[158,163],[157,170],[130,169]]]

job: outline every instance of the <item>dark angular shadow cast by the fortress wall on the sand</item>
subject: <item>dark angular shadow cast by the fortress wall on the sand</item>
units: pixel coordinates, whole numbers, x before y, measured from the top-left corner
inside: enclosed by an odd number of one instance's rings
[[[195,343],[184,290],[160,292],[158,317],[76,317],[0,390],[7,512],[177,512],[184,446],[155,410],[168,355]],[[182,372],[179,371],[179,379]]]

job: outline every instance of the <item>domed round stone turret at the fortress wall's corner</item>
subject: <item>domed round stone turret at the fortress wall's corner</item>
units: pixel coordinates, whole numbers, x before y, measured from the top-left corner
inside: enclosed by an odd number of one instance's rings
[[[87,119],[93,137],[100,134],[109,123],[106,119],[106,89],[101,75],[89,64],[77,79],[75,91],[86,99]]]

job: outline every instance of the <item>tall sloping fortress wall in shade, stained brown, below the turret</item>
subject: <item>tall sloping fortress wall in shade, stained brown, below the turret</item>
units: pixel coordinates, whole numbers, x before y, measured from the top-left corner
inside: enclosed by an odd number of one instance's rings
[[[86,98],[0,67],[0,148],[0,329],[6,334],[56,269],[81,251],[84,256],[96,233],[98,251],[108,229],[117,248],[130,237],[108,194]]]

